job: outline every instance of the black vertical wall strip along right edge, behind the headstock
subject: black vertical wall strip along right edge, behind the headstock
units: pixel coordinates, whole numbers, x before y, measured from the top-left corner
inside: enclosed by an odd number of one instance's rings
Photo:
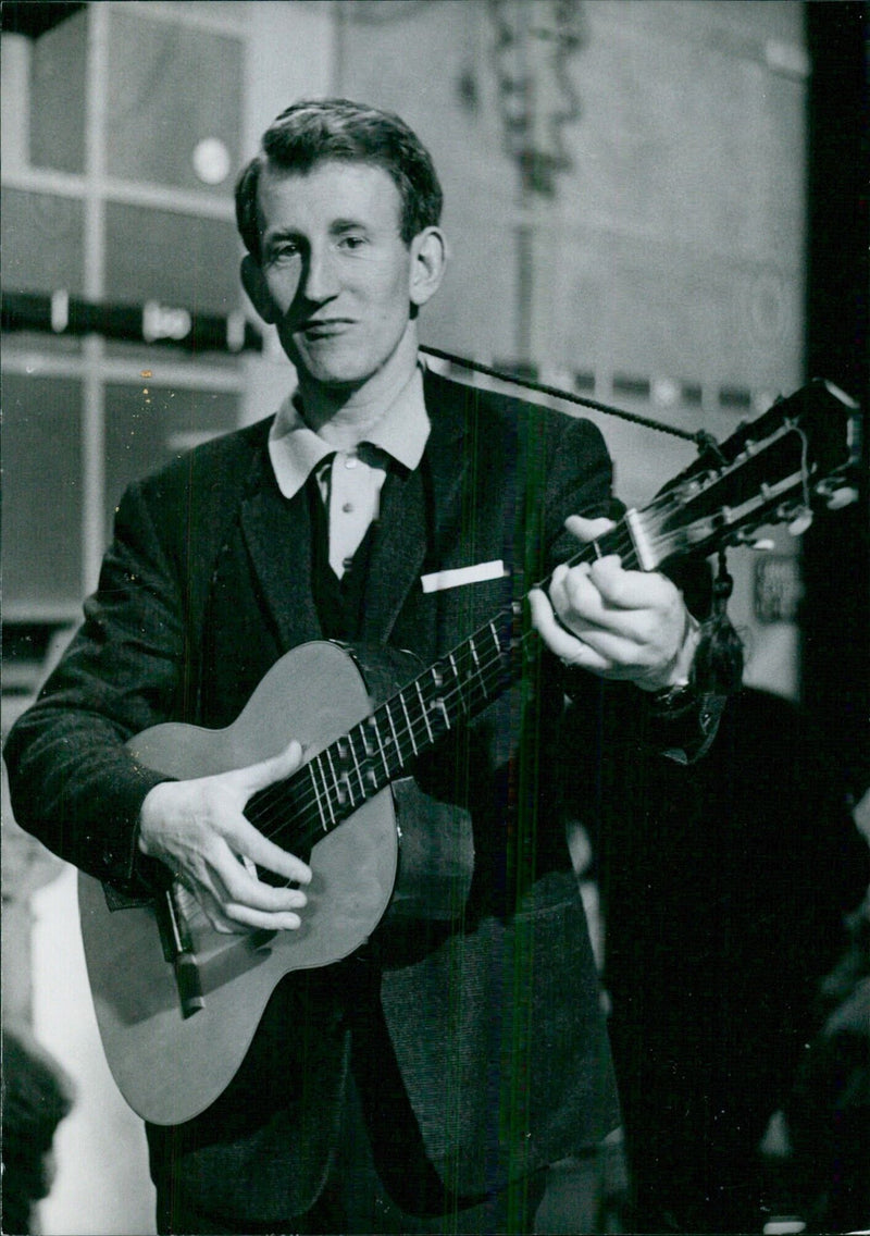
[[[809,0],[807,371],[870,408],[868,353],[866,4]],[[870,784],[870,496],[868,433],[858,504],[805,538],[803,700],[856,795]]]

